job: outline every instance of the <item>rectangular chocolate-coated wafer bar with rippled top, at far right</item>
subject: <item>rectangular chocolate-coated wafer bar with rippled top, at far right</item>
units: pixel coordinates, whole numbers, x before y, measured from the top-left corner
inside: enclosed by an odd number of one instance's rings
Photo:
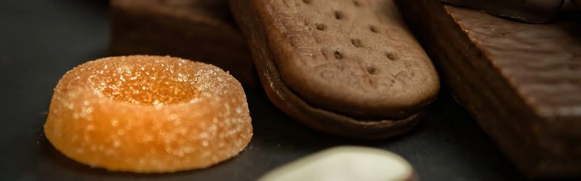
[[[526,176],[581,175],[581,24],[396,1],[443,81]],[[569,14],[570,15],[570,14]]]

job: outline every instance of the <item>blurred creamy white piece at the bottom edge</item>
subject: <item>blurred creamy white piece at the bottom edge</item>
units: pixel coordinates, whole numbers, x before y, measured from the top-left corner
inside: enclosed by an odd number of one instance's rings
[[[257,181],[412,181],[414,171],[390,151],[339,146],[311,154],[268,172]]]

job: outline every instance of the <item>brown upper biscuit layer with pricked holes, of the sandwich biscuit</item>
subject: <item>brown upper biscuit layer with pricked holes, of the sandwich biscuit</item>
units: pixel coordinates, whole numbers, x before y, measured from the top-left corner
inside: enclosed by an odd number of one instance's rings
[[[431,61],[391,0],[252,0],[275,65],[313,107],[402,118],[435,99]]]

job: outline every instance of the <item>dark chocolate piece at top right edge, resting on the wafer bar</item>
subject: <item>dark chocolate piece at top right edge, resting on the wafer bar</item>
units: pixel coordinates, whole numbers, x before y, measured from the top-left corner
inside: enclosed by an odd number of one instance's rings
[[[565,0],[440,0],[528,23],[546,23],[558,15]]]

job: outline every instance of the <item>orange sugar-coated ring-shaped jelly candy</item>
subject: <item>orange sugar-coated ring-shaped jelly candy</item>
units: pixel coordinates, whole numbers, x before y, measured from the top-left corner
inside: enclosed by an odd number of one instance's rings
[[[210,64],[163,56],[107,57],[60,79],[44,132],[67,157],[110,171],[206,168],[252,137],[241,84]]]

